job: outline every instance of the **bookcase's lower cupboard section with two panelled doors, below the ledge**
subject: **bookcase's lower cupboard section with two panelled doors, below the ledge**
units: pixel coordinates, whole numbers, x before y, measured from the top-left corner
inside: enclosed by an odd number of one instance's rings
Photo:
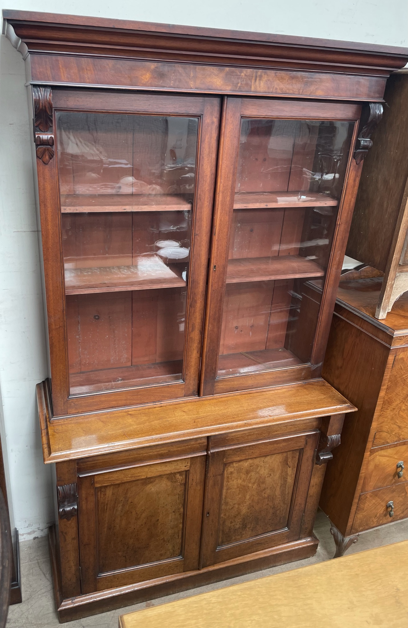
[[[60,620],[313,556],[343,416],[56,463]]]

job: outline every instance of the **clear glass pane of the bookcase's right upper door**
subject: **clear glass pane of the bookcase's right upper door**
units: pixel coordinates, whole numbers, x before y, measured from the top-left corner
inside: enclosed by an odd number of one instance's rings
[[[218,377],[309,362],[353,127],[243,119]]]

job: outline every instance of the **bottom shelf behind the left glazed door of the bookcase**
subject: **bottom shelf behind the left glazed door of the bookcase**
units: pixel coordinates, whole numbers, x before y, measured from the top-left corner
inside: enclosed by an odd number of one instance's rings
[[[182,364],[182,360],[171,360],[158,364],[137,364],[117,369],[70,374],[70,394],[95,393],[180,381]]]

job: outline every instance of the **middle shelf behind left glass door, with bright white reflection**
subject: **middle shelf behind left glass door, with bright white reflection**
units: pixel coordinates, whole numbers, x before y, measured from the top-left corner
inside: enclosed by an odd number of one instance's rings
[[[139,256],[132,266],[66,268],[66,295],[123,290],[149,290],[185,286],[177,264],[166,264],[158,256]]]

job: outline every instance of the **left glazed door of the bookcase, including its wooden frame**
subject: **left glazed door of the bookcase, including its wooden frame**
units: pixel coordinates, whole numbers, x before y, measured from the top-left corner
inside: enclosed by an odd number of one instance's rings
[[[38,160],[55,414],[197,394],[219,99],[53,90]]]

